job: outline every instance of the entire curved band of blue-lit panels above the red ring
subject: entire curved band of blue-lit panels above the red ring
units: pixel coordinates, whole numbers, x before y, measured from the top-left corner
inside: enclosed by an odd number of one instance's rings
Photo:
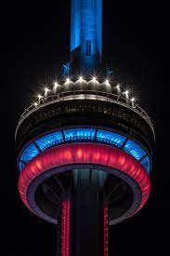
[[[126,141],[126,137],[121,134],[102,129],[97,130],[95,128],[66,129],[63,130],[63,133],[61,131],[53,132],[34,141],[35,143],[31,143],[20,156],[20,171],[24,168],[25,164],[33,159],[33,157],[39,155],[40,151],[46,151],[46,149],[64,142],[68,143],[87,141],[106,143],[121,148],[129,155],[133,155],[137,160],[143,159],[141,161],[141,164],[144,166],[144,168],[146,168],[148,173],[150,172],[149,156],[146,154],[144,149],[141,148],[135,141]],[[38,150],[38,148],[40,149],[40,151]],[[144,157],[145,155],[146,157]]]

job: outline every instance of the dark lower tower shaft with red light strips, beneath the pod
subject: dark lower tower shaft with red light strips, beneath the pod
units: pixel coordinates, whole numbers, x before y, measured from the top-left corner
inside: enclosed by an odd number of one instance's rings
[[[100,171],[74,171],[72,193],[63,199],[58,256],[108,256],[108,214]]]

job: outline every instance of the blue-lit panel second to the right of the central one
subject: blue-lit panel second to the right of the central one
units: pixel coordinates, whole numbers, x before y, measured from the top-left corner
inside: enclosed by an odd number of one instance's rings
[[[124,151],[133,155],[137,160],[146,155],[145,151],[134,141],[128,140],[124,145]]]

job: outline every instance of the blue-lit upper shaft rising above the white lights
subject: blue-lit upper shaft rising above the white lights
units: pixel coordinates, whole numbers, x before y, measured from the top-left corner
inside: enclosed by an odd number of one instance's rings
[[[94,70],[102,59],[102,0],[72,0],[71,61]]]

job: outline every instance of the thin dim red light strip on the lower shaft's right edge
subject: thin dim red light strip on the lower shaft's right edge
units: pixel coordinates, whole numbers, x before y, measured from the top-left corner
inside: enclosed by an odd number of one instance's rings
[[[104,205],[104,256],[109,255],[109,214],[108,204]]]

